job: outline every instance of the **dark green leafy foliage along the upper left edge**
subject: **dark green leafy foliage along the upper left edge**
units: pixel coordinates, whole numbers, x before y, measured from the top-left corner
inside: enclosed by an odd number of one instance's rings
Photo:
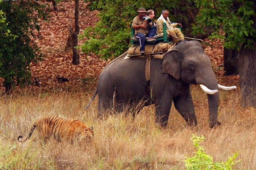
[[[0,25],[0,77],[5,80],[5,88],[7,84],[24,85],[25,82],[30,82],[30,63],[43,57],[28,34],[30,29],[39,31],[37,18],[47,18],[48,15],[43,9],[31,1],[0,3],[0,10],[6,17],[6,24]],[[37,12],[37,15],[33,16],[34,12]],[[30,34],[35,37],[33,32]]]

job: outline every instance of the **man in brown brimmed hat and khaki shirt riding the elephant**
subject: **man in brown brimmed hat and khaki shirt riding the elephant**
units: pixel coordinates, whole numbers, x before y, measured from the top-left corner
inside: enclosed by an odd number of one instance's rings
[[[148,22],[147,20],[143,20],[143,17],[146,16],[146,9],[139,8],[138,16],[136,16],[132,21],[132,28],[135,29],[135,36],[139,39],[140,42],[140,54],[145,54],[145,41],[146,37],[149,35],[156,35],[156,32],[150,32],[155,30],[149,30],[148,26],[152,26],[152,22]],[[148,43],[157,42],[156,39],[150,38],[147,41]]]

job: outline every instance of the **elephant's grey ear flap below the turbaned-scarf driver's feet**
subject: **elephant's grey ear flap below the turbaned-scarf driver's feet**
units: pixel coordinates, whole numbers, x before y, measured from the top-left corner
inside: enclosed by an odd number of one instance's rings
[[[181,68],[180,63],[175,55],[168,55],[163,58],[162,62],[163,73],[172,75],[177,80],[180,79]]]

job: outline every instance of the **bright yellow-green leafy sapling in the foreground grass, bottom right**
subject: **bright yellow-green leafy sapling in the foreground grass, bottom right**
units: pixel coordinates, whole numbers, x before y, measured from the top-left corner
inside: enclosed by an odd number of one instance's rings
[[[228,157],[226,162],[213,162],[213,158],[211,155],[207,155],[204,152],[204,148],[200,146],[200,143],[205,140],[204,136],[192,136],[192,141],[195,147],[196,152],[195,156],[188,158],[186,157],[185,166],[188,170],[195,169],[204,169],[204,170],[232,170],[233,166],[239,162],[236,161],[236,157],[238,156],[238,152],[233,154],[233,157]]]

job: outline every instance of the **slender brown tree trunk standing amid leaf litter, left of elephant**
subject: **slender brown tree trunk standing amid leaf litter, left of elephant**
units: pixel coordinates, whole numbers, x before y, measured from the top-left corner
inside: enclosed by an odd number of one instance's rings
[[[78,49],[75,49],[76,46],[78,46],[78,37],[79,34],[79,0],[75,0],[75,31],[72,33],[72,50],[73,50],[73,61],[72,63],[74,65],[79,64],[79,53]]]

